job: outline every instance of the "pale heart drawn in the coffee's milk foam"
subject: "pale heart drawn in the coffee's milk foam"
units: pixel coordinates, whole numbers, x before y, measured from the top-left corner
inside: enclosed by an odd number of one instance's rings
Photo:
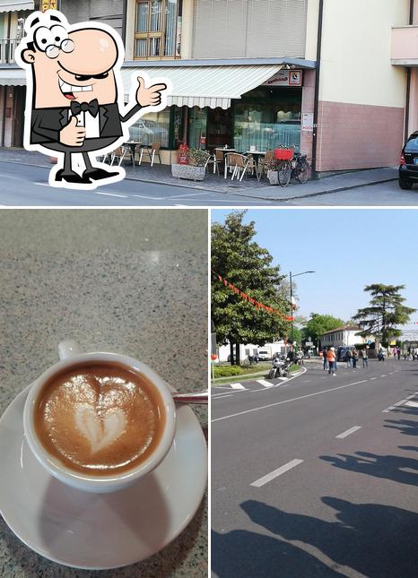
[[[100,419],[90,406],[79,406],[75,410],[75,424],[91,444],[91,453],[99,452],[112,444],[124,433],[126,417],[123,410],[113,408]]]

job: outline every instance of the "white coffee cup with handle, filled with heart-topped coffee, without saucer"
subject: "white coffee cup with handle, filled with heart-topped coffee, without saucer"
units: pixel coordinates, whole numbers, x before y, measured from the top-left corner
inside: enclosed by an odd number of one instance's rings
[[[48,473],[87,492],[113,492],[169,452],[176,410],[169,385],[135,358],[58,345],[60,360],[31,385],[23,428]]]

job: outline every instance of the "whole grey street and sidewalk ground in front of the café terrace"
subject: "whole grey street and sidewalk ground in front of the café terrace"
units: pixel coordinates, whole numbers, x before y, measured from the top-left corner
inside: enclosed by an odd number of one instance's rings
[[[126,165],[120,183],[94,191],[77,191],[48,185],[51,165],[36,152],[0,149],[0,206],[269,206],[414,205],[418,191],[401,191],[395,168],[353,171],[304,185],[288,187],[242,182],[206,175],[205,181],[179,181],[170,167]]]

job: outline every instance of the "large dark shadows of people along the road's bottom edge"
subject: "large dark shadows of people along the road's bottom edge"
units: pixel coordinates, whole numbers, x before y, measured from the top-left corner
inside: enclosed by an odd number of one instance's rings
[[[256,500],[244,502],[241,507],[252,522],[278,538],[251,531],[214,532],[214,573],[220,578],[319,578],[356,573],[370,578],[415,578],[417,513],[388,505],[352,504],[329,496],[322,502],[335,511],[335,521],[287,513]],[[327,559],[318,560],[302,546],[283,539],[315,547]]]

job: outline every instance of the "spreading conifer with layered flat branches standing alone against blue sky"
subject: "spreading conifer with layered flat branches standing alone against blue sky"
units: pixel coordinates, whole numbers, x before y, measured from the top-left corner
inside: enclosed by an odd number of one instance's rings
[[[384,347],[388,347],[388,342],[394,337],[399,337],[402,332],[397,329],[397,325],[406,324],[409,316],[416,309],[407,307],[404,304],[405,298],[400,291],[405,289],[405,285],[384,285],[375,283],[367,285],[364,290],[370,293],[370,305],[359,309],[353,319],[360,324],[361,337],[373,335],[376,341],[381,342]]]

